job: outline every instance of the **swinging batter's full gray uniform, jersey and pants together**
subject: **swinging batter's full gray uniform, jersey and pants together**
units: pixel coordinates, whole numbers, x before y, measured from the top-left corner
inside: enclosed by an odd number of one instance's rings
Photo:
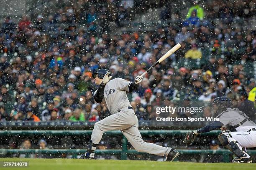
[[[96,145],[100,143],[103,133],[108,130],[121,130],[138,152],[160,156],[168,154],[172,148],[146,143],[141,138],[138,130],[138,118],[126,95],[130,85],[131,82],[122,78],[110,80],[105,85],[104,100],[111,115],[95,123],[91,136],[92,143]]]

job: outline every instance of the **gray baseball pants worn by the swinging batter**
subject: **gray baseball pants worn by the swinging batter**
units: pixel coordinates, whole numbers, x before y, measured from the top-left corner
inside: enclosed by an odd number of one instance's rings
[[[133,148],[138,152],[164,156],[172,149],[144,142],[138,130],[138,118],[134,111],[128,109],[128,107],[96,122],[91,135],[92,143],[99,144],[103,133],[108,130],[121,130],[123,135],[133,145]]]

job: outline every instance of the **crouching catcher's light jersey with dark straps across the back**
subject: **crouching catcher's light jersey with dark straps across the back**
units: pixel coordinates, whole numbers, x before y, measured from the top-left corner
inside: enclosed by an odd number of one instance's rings
[[[238,125],[246,119],[246,121],[243,122],[242,125],[236,128],[237,131],[244,131],[256,127],[256,124],[249,120],[249,117],[244,112],[241,112],[238,109],[228,108],[224,112],[220,113],[220,115],[218,115],[217,117],[220,119],[219,121],[222,122],[223,125],[232,126]]]

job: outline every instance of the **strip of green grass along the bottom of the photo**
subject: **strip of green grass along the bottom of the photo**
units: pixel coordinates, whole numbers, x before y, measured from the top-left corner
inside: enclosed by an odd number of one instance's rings
[[[231,163],[187,163],[156,162],[142,160],[77,160],[77,159],[25,159],[0,158],[1,170],[17,170],[3,168],[3,162],[27,161],[28,168],[20,170],[255,170],[256,164]]]

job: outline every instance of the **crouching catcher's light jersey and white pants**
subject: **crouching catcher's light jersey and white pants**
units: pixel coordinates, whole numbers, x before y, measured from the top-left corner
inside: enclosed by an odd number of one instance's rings
[[[228,138],[228,142],[237,142],[240,149],[256,147],[256,124],[244,112],[228,108],[217,117],[223,125],[236,128],[236,132],[223,131],[222,134]]]

